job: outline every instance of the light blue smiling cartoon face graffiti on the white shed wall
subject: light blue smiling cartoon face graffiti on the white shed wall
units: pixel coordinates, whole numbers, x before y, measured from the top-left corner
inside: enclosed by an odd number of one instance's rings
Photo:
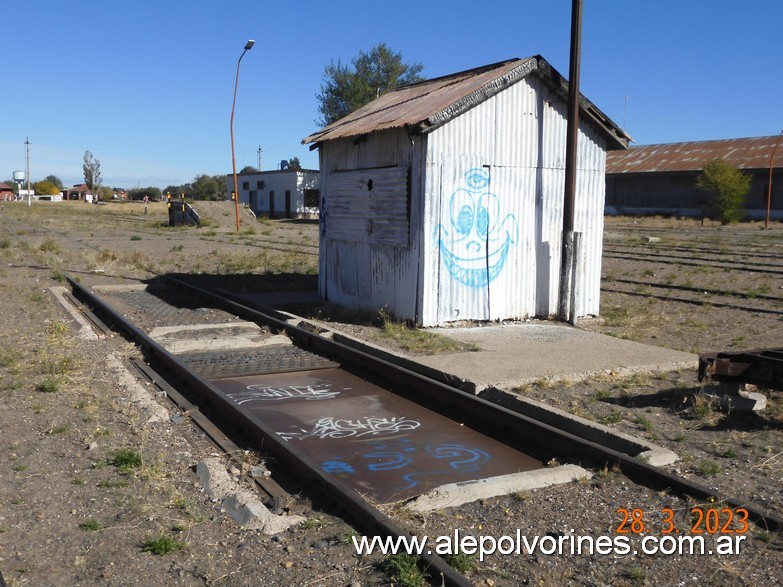
[[[485,169],[468,171],[465,184],[467,188],[451,195],[448,223],[436,227],[435,239],[454,279],[468,287],[486,287],[503,270],[517,241],[517,220],[513,214],[501,220],[500,199],[490,193]]]

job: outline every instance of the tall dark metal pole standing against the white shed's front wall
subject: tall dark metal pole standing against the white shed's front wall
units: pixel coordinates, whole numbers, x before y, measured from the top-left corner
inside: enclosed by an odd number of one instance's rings
[[[576,155],[579,137],[579,62],[582,47],[582,0],[571,4],[571,65],[568,73],[568,124],[566,129],[566,168],[563,195],[563,245],[560,258],[560,300],[558,317],[569,319],[573,288],[574,209],[576,192]]]

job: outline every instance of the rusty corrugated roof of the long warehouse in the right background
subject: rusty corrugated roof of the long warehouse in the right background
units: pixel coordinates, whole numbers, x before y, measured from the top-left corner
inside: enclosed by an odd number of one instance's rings
[[[777,141],[778,136],[771,136],[630,147],[607,155],[606,173],[701,171],[713,159],[740,169],[769,169]],[[775,153],[774,166],[783,166],[783,145]]]

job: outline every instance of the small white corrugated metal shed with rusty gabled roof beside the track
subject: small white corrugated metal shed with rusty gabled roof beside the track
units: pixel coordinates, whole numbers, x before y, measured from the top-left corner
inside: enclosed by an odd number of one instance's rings
[[[319,294],[431,326],[557,313],[566,80],[540,56],[399,87],[306,137],[321,168]],[[606,151],[580,103],[577,315],[598,314]]]

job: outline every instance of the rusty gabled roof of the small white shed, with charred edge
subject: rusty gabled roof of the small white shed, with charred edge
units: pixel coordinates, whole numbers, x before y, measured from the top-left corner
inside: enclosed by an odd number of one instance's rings
[[[434,130],[505,88],[535,74],[564,99],[568,82],[540,55],[510,59],[460,73],[400,86],[379,96],[302,140],[304,144],[361,136],[407,127],[412,134]],[[625,149],[630,137],[584,96],[580,116],[587,116],[608,137],[609,148]]]

